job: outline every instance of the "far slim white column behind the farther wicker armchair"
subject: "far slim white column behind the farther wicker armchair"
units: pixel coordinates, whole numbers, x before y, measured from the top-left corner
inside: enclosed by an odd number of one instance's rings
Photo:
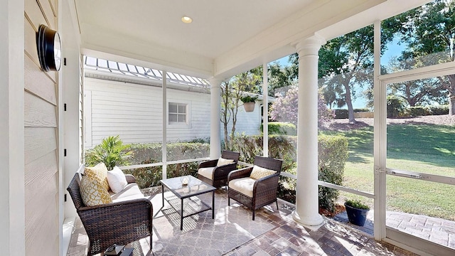
[[[212,78],[210,82],[210,159],[218,159],[221,152],[221,80]]]

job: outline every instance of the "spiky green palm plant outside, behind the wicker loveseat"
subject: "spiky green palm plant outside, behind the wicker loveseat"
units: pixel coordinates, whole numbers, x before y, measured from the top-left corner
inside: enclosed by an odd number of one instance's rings
[[[128,145],[124,145],[119,136],[109,136],[102,140],[101,144],[87,151],[85,156],[86,166],[95,166],[96,164],[105,163],[108,170],[114,169],[114,166],[124,166],[129,164],[132,158],[132,151],[127,151]]]

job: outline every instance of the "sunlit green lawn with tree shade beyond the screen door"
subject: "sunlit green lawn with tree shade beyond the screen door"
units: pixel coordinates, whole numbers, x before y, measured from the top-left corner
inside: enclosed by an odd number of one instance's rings
[[[348,138],[349,159],[344,186],[373,193],[373,127],[342,134]],[[387,167],[455,177],[455,126],[390,124],[387,126]],[[341,192],[342,198],[373,200]],[[455,220],[455,186],[387,176],[387,210]]]

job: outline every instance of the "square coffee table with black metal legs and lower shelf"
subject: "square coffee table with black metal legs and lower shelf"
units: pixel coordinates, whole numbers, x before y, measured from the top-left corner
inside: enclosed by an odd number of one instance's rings
[[[182,183],[183,177],[188,179],[188,184]],[[193,176],[183,176],[176,178],[165,178],[161,180],[163,191],[164,207],[164,187],[173,193],[173,196],[166,198],[166,201],[180,214],[180,230],[183,230],[183,218],[202,213],[205,210],[212,210],[212,218],[215,218],[215,187],[208,185]],[[212,206],[208,206],[197,196],[203,193],[212,192]],[[186,199],[186,200],[185,200]]]

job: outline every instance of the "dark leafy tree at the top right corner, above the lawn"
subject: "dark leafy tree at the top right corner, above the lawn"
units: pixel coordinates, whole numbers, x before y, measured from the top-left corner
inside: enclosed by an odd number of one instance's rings
[[[408,45],[403,55],[424,65],[454,61],[454,13],[454,1],[435,0],[391,18],[401,24],[399,35]],[[455,114],[455,74],[438,79],[448,91],[449,114]]]

